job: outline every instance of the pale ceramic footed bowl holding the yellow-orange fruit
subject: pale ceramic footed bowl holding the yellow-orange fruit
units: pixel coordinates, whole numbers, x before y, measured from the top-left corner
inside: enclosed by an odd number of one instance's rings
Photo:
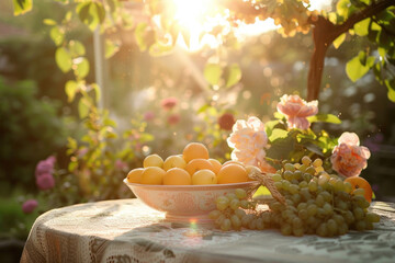
[[[218,196],[233,193],[236,188],[246,191],[257,186],[258,182],[206,185],[150,185],[124,183],[147,206],[166,213],[171,221],[206,221],[207,215],[216,208]]]

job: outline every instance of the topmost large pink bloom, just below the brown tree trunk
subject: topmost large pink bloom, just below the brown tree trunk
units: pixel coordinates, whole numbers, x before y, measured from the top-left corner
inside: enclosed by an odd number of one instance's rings
[[[308,129],[306,117],[318,113],[318,101],[305,102],[298,95],[283,95],[278,103],[278,111],[285,115],[290,128]]]

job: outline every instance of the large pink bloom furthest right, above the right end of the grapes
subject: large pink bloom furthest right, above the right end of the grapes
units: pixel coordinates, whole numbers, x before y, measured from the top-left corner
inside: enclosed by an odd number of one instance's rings
[[[354,133],[343,133],[338,142],[330,157],[332,169],[346,178],[358,176],[368,167],[369,149],[359,146],[360,140]]]

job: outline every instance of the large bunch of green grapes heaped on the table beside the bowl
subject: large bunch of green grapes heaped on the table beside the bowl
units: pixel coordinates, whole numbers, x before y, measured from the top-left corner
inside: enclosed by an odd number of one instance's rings
[[[268,202],[269,209],[259,209],[238,188],[216,199],[217,209],[208,215],[214,225],[224,231],[276,228],[284,236],[335,237],[371,230],[380,221],[379,215],[369,211],[364,191],[352,190],[349,182],[328,174],[320,159],[312,161],[305,156],[302,163],[285,163],[270,176],[285,204]]]

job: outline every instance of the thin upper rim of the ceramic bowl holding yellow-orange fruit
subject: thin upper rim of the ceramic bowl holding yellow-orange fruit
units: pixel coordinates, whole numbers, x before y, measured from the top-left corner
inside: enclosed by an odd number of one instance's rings
[[[199,185],[163,185],[163,184],[138,184],[138,183],[129,183],[127,178],[123,180],[123,182],[128,186],[136,186],[136,187],[146,187],[151,190],[222,190],[222,188],[237,188],[237,187],[246,187],[249,185],[258,185],[258,181],[248,181],[242,183],[229,183],[229,184],[199,184]]]

